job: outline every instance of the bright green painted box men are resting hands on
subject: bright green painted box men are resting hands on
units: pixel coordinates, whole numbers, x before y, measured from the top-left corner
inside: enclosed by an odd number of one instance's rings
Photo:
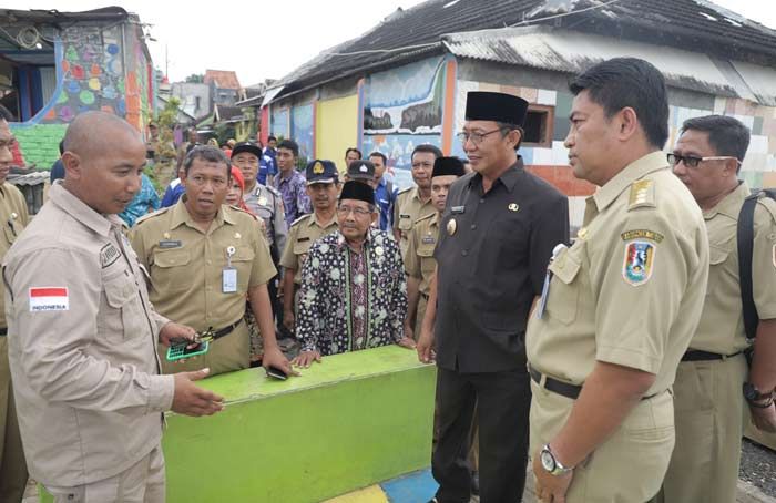
[[[436,367],[415,351],[325,357],[300,373],[201,381],[226,409],[167,415],[167,502],[319,502],[430,464]]]

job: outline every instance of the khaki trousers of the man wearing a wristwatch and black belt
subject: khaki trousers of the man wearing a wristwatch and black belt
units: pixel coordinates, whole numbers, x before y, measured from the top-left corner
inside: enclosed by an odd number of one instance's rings
[[[574,401],[533,380],[531,391],[530,453],[535,455],[563,427]],[[660,490],[673,448],[673,397],[664,391],[640,401],[620,428],[575,466],[566,503],[649,501]]]

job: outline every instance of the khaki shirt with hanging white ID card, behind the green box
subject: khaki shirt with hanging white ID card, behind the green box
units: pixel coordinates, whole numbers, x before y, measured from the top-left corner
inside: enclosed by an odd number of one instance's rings
[[[267,242],[253,215],[222,206],[207,232],[192,219],[183,198],[137,220],[132,247],[151,275],[150,296],[160,312],[195,330],[227,327],[245,314],[248,289],[276,275]],[[223,273],[237,270],[237,291],[223,291]]]

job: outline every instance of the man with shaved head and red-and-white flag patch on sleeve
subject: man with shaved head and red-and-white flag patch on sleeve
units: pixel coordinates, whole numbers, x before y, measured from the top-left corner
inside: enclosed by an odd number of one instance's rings
[[[161,413],[213,414],[223,399],[192,382],[207,369],[159,374],[156,342],[194,330],[154,311],[116,217],[141,186],[140,135],[89,112],[68,127],[64,151],[63,183],[3,265],[28,466],[57,502],[161,503]]]

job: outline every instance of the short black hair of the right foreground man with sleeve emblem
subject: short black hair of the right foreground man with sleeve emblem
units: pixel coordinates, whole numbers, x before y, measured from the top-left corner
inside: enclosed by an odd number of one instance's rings
[[[646,140],[663,148],[668,140],[668,97],[663,74],[637,58],[613,58],[576,75],[569,89],[574,95],[588,91],[607,119],[630,106],[636,112]]]

